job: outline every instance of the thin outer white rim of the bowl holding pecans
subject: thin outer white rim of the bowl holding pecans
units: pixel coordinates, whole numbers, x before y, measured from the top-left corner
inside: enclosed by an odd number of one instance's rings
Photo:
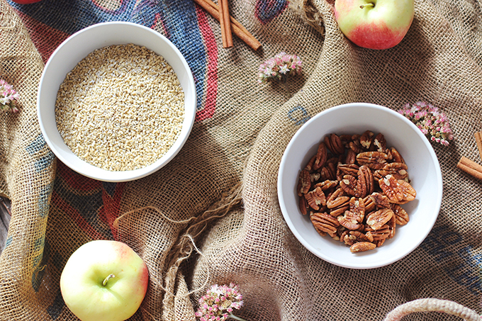
[[[378,264],[358,264],[358,265],[346,264],[343,261],[339,261],[337,259],[329,258],[329,257],[325,256],[323,253],[319,252],[317,249],[315,249],[315,247],[313,247],[313,244],[310,244],[310,242],[307,242],[306,239],[303,237],[303,235],[301,235],[301,233],[298,232],[298,230],[296,230],[296,227],[294,226],[293,222],[291,221],[291,218],[288,215],[288,210],[287,210],[286,205],[284,203],[284,199],[281,196],[281,189],[282,189],[283,180],[284,180],[284,177],[282,175],[282,169],[285,167],[285,163],[286,163],[286,152],[291,149],[292,145],[294,144],[294,142],[296,140],[296,137],[298,137],[298,135],[301,135],[301,132],[302,132],[303,128],[306,128],[307,126],[310,125],[310,123],[315,122],[316,120],[318,120],[318,118],[321,118],[321,117],[325,116],[327,113],[332,113],[333,111],[347,109],[347,108],[353,108],[353,107],[374,108],[376,110],[389,113],[389,114],[391,114],[391,116],[399,118],[404,123],[409,125],[411,128],[413,128],[415,133],[417,133],[417,135],[422,139],[422,142],[424,142],[424,145],[425,145],[425,147],[427,147],[427,150],[430,153],[431,159],[434,162],[434,166],[435,166],[435,174],[436,174],[435,180],[437,181],[438,190],[436,191],[436,198],[433,201],[433,203],[435,204],[435,206],[437,208],[437,215],[433,215],[432,219],[430,221],[427,221],[427,225],[426,225],[427,228],[425,229],[425,232],[422,235],[420,235],[420,240],[419,240],[419,242],[417,242],[415,247],[407,249],[405,252],[400,253],[398,256],[393,257],[391,259],[381,260],[381,261],[379,261]],[[408,118],[405,118],[405,116],[402,116],[400,113],[397,113],[396,111],[393,111],[392,109],[390,109],[388,107],[380,106],[380,105],[377,105],[377,104],[374,104],[374,103],[344,103],[342,105],[327,108],[325,111],[321,111],[320,113],[316,114],[315,116],[310,118],[308,121],[306,121],[306,123],[304,123],[300,128],[298,128],[298,130],[293,135],[293,137],[291,137],[291,140],[288,142],[288,145],[286,146],[284,154],[281,157],[281,162],[280,162],[278,177],[277,177],[277,191],[278,191],[279,206],[280,206],[281,213],[284,217],[284,220],[285,220],[286,224],[288,225],[289,229],[291,230],[293,235],[296,237],[298,242],[301,242],[301,244],[303,244],[303,246],[306,247],[306,249],[308,249],[308,251],[315,254],[315,256],[319,257],[320,259],[323,259],[323,260],[325,260],[325,261],[327,261],[331,264],[334,264],[336,266],[341,266],[341,267],[349,268],[349,269],[375,269],[375,268],[379,268],[379,267],[382,267],[382,266],[387,266],[389,264],[392,264],[395,261],[403,259],[403,257],[406,257],[408,254],[413,252],[413,250],[416,249],[423,242],[423,240],[425,240],[427,235],[430,233],[430,231],[432,230],[432,227],[435,225],[435,221],[437,220],[438,213],[439,213],[439,210],[440,210],[441,205],[442,205],[442,195],[443,195],[442,171],[441,171],[440,166],[439,166],[437,154],[435,154],[435,151],[433,150],[432,145],[430,145],[429,140],[427,139],[427,137],[425,137],[425,135],[422,133],[422,131],[419,128],[417,128],[417,126],[414,123],[412,123],[410,120],[408,120]]]

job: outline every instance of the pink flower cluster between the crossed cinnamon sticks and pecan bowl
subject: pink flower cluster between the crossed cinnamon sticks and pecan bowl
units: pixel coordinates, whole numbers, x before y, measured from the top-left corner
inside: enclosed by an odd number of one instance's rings
[[[259,65],[258,82],[268,80],[286,81],[293,74],[301,74],[301,59],[297,55],[280,52],[266,62]]]

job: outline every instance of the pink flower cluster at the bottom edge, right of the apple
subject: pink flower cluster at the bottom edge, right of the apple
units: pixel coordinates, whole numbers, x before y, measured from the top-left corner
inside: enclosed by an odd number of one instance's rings
[[[234,283],[229,286],[218,286],[215,284],[208,288],[206,295],[199,299],[199,308],[196,317],[201,321],[224,321],[228,317],[242,320],[232,315],[232,309],[239,309],[242,306],[242,295]]]

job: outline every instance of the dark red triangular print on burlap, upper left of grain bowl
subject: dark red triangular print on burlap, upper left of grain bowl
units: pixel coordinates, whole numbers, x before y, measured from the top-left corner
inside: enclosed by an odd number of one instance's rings
[[[20,16],[23,24],[26,26],[33,45],[40,52],[44,63],[47,62],[52,52],[69,37],[69,34],[40,23],[21,11],[16,10],[16,13],[18,13],[18,16]]]

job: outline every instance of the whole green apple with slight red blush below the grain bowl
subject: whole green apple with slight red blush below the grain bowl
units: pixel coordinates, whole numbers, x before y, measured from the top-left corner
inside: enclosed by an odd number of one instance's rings
[[[95,240],[69,257],[60,291],[82,321],[123,321],[140,307],[148,281],[147,265],[127,244]]]

